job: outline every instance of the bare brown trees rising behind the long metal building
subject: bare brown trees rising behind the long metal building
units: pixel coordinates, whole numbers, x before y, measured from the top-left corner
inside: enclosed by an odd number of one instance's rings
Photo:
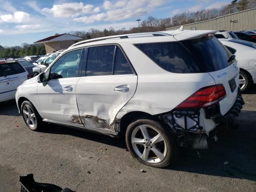
[[[155,32],[164,31],[166,28],[175,27],[185,24],[190,24],[194,22],[200,22],[205,20],[214,19],[219,16],[226,14],[232,14],[242,10],[247,10],[256,7],[256,0],[232,0],[230,4],[222,6],[221,8],[204,9],[197,12],[183,12],[181,14],[176,14],[172,17],[167,18],[155,18],[148,17],[147,20],[142,20],[139,27],[133,27],[130,29],[122,28],[119,30],[114,30],[114,28],[98,30],[91,28],[86,31],[71,31],[69,34],[79,36],[83,40],[98,38],[111,35],[129,34],[137,32]],[[220,29],[222,30],[222,29]]]

